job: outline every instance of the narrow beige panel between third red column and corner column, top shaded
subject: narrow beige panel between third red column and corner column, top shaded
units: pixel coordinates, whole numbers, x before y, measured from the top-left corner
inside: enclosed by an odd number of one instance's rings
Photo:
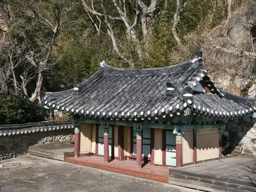
[[[163,162],[163,153],[162,153],[162,130],[155,129],[155,137],[154,137],[154,163],[162,165]]]

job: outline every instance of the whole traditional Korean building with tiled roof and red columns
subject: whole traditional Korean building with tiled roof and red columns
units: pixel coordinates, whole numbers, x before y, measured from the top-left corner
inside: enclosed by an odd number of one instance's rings
[[[218,159],[224,123],[252,116],[255,98],[216,87],[200,56],[150,69],[119,69],[102,60],[89,79],[44,93],[42,103],[73,116],[75,157],[137,160],[137,168],[143,161],[180,167]]]

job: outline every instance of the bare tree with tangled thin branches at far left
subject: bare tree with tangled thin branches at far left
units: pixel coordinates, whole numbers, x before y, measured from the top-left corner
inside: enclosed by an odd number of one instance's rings
[[[27,96],[29,88],[30,100],[35,102],[41,93],[45,71],[55,64],[51,55],[58,34],[61,30],[76,29],[77,23],[70,13],[76,4],[73,0],[23,0],[12,6],[17,22],[13,20],[10,29],[3,32],[2,82],[12,82],[15,93],[23,91]]]

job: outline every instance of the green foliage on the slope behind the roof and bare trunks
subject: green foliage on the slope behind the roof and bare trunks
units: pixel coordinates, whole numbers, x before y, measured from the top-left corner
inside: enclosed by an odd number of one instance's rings
[[[46,1],[47,2],[47,1]],[[150,0],[144,1],[149,4]],[[142,57],[138,57],[135,50],[134,41],[126,34],[125,26],[119,21],[110,21],[115,33],[115,37],[120,52],[129,61],[134,62],[135,68],[163,67],[186,61],[199,52],[196,45],[188,45],[188,36],[196,32],[201,35],[208,29],[212,29],[227,17],[226,0],[191,0],[187,3],[185,9],[180,13],[180,24],[177,27],[178,35],[185,48],[189,49],[186,53],[177,46],[177,42],[172,35],[173,17],[176,11],[176,0],[163,0],[157,4],[154,11],[153,24],[148,33],[146,42],[142,38],[140,19],[134,27],[136,35],[140,41]],[[180,8],[182,6],[180,1]],[[240,6],[242,0],[233,0],[232,8]],[[54,22],[47,10],[54,12],[49,4],[41,4],[39,13],[47,20]],[[99,3],[93,4],[97,12],[102,12]],[[105,8],[109,15],[118,16],[118,12],[112,3],[105,3]],[[131,3],[126,3],[127,17],[130,21],[134,20],[134,9]],[[75,14],[73,14],[75,13]],[[129,68],[129,64],[122,61],[113,49],[112,42],[107,33],[104,18],[101,20],[99,35],[90,23],[87,13],[83,6],[77,6],[70,12],[73,23],[77,24],[76,30],[61,31],[57,37],[57,42],[52,53],[52,63],[55,63],[52,73],[56,84],[65,89],[71,88],[72,83],[80,83],[89,78],[99,69],[99,63],[102,58],[106,63],[113,67]],[[94,22],[99,26],[99,20],[95,16]],[[139,15],[140,18],[142,15]],[[70,15],[67,15],[70,17]],[[17,19],[23,25],[24,20]],[[71,28],[71,27],[70,27]],[[39,29],[38,29],[39,30]],[[47,29],[45,29],[47,30]],[[38,35],[38,34],[37,34]],[[189,52],[189,53],[188,53]],[[62,88],[52,86],[52,79],[45,73],[43,90],[56,91]]]

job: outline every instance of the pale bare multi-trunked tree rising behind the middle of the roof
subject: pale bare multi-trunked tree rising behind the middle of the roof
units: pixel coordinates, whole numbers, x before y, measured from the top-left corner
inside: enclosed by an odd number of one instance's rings
[[[119,49],[119,45],[116,40],[116,36],[113,31],[113,26],[110,21],[119,21],[122,22],[126,29],[126,34],[129,38],[131,38],[134,42],[136,52],[141,58],[142,56],[142,50],[141,50],[141,44],[140,44],[140,38],[138,37],[138,32],[135,30],[135,26],[137,25],[138,15],[141,13],[140,22],[141,22],[141,30],[143,33],[143,40],[147,41],[147,35],[148,32],[151,29],[152,26],[152,18],[154,11],[157,9],[157,3],[158,0],[151,0],[151,3],[149,6],[146,6],[145,3],[143,3],[142,0],[135,0],[133,3],[131,0],[127,3],[125,0],[119,2],[116,2],[116,0],[112,0],[113,6],[116,9],[116,12],[118,13],[118,17],[111,16],[108,14],[105,5],[102,3],[102,0],[98,0],[98,3],[100,5],[101,10],[95,11],[95,9],[92,9],[90,6],[88,6],[88,3],[85,0],[82,0],[82,4],[84,6],[85,11],[92,15],[95,15],[97,17],[104,17],[104,21],[107,26],[108,35],[111,38],[113,48],[115,49],[116,53],[119,55],[120,58],[122,58],[123,61],[130,64],[130,67],[133,68],[134,64],[132,61],[128,61],[125,56],[122,54],[122,52]],[[127,13],[127,6],[128,4],[132,6],[134,10],[134,15],[132,18],[128,17]],[[93,7],[93,1],[92,1],[92,7]],[[132,20],[131,20],[132,19]]]

